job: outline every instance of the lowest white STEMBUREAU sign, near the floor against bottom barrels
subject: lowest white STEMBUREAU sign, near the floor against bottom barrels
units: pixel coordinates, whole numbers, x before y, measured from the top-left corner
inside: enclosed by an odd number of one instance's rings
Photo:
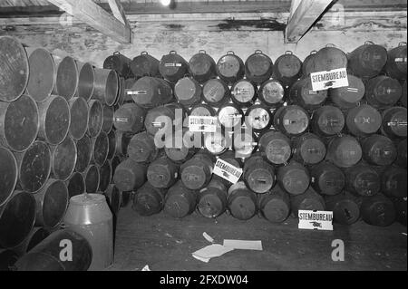
[[[333,212],[299,210],[299,229],[333,231]]]

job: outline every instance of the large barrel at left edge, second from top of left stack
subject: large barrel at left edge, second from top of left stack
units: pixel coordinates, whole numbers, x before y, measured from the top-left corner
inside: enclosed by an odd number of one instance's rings
[[[0,145],[22,152],[37,137],[39,112],[35,101],[28,95],[14,102],[0,102]]]

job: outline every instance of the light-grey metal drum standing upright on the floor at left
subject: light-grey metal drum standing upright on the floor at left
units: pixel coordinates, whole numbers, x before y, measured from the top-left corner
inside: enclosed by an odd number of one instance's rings
[[[90,271],[100,271],[112,265],[113,217],[103,195],[72,197],[63,223],[68,229],[84,236],[91,245]]]

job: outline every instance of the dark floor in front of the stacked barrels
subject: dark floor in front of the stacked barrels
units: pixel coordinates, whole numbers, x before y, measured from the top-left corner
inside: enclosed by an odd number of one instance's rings
[[[208,264],[191,253],[209,243],[207,232],[219,244],[223,239],[261,240],[263,251],[235,250]],[[407,270],[406,227],[335,226],[332,232],[297,229],[289,218],[280,225],[254,217],[241,222],[226,214],[217,220],[198,214],[172,219],[164,213],[140,217],[131,207],[118,217],[115,263],[110,270],[138,271],[273,271],[273,270]],[[332,241],[345,242],[345,261],[334,262]]]

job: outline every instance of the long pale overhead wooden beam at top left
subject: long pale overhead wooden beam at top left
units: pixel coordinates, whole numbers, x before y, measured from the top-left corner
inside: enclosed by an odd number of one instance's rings
[[[48,0],[48,2],[119,43],[131,43],[131,28],[122,24],[92,0]]]

